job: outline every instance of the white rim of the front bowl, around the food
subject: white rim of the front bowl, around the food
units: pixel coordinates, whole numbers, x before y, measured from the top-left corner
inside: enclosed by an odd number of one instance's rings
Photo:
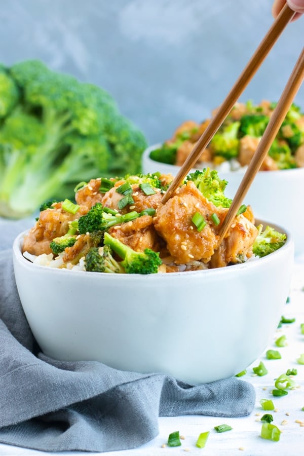
[[[285,233],[287,236],[285,244],[279,248],[278,250],[274,251],[273,253],[264,256],[262,258],[256,258],[253,260],[245,261],[244,263],[239,263],[239,264],[233,264],[231,267],[223,267],[223,268],[214,268],[214,269],[204,269],[204,270],[199,270],[199,271],[180,271],[180,272],[172,272],[172,273],[158,273],[158,274],[132,274],[131,276],[133,279],[137,280],[149,280],[149,281],[160,281],[160,280],[168,280],[165,279],[165,277],[170,277],[172,280],[180,280],[180,276],[184,277],[185,279],[190,279],[194,278],[197,276],[203,276],[203,277],[213,277],[213,276],[218,276],[221,277],[223,274],[225,276],[229,274],[238,274],[242,270],[248,270],[248,269],[254,269],[258,268],[260,261],[262,261],[262,264],[266,267],[267,263],[272,263],[273,261],[278,261],[280,260],[280,257],[285,255],[285,252],[287,250],[292,249],[292,252],[294,252],[294,241],[292,238],[292,235],[289,233],[288,230],[285,230],[282,226],[277,225],[275,223],[270,223],[265,220],[259,220],[256,219],[256,224],[262,223],[263,226],[270,225],[274,227],[277,231],[280,231],[281,233]],[[29,230],[23,231],[22,233],[19,233],[19,235],[14,239],[13,242],[13,258],[15,261],[17,261],[21,267],[26,268],[26,269],[32,269],[35,271],[41,271],[47,273],[48,271],[51,271],[52,274],[59,274],[62,277],[62,271],[65,271],[70,275],[70,277],[107,277],[107,280],[118,280],[117,274],[107,274],[107,273],[97,273],[97,272],[89,272],[89,271],[73,271],[73,270],[66,270],[64,268],[59,269],[59,268],[50,268],[41,264],[34,264],[28,259],[26,259],[23,254],[21,253],[21,243],[23,241],[24,236],[29,232]],[[293,253],[294,255],[294,253]],[[14,265],[15,267],[15,265]],[[64,273],[63,273],[64,274]],[[120,281],[130,281],[130,274],[119,274],[120,276]]]

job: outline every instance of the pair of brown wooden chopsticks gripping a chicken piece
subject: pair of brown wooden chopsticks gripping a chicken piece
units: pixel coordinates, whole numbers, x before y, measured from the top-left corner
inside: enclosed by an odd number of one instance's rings
[[[165,193],[162,203],[166,203],[174,194],[177,187],[183,181],[185,176],[193,168],[198,158],[200,157],[202,151],[209,144],[212,137],[215,135],[227,115],[229,115],[236,101],[238,100],[241,93],[244,91],[248,83],[253,78],[253,75],[258,70],[259,66],[270,52],[278,37],[288,24],[295,12],[292,11],[289,6],[286,4],[281,10],[279,16],[273,22],[272,26],[268,30],[267,34],[264,36],[263,40],[259,44],[258,48],[254,52],[253,56],[249,60],[245,69],[241,73],[240,77],[236,81],[235,85],[223,101],[223,103],[218,108],[210,124],[196,143],[195,147],[192,150],[192,153],[188,156],[179,172],[175,176],[171,185],[169,186],[167,192]],[[304,79],[304,48],[293,68],[293,71],[290,75],[290,78],[284,88],[284,91],[279,99],[279,102],[272,113],[270,122],[267,128],[264,131],[264,134],[256,148],[254,156],[248,166],[248,169],[240,183],[238,191],[233,199],[232,205],[230,206],[229,211],[220,227],[219,239],[217,248],[221,244],[223,238],[225,237],[229,227],[235,218],[239,207],[241,206],[243,199],[245,198],[248,189],[258,172],[264,158],[267,156],[270,146],[275,139],[283,120],[292,104],[292,101],[300,88],[300,85]]]

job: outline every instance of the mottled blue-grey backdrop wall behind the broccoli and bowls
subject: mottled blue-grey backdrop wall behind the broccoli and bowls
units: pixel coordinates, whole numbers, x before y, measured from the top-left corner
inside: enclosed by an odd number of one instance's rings
[[[0,60],[39,58],[108,90],[148,142],[220,104],[270,27],[272,0],[1,0]],[[241,100],[277,100],[303,46],[289,24]],[[304,88],[296,97],[304,108]]]

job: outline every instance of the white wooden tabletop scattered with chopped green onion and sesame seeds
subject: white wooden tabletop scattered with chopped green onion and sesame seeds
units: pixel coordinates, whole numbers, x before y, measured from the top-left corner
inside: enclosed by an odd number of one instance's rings
[[[157,438],[140,448],[126,451],[110,451],[107,456],[170,456],[181,454],[192,454],[216,456],[217,454],[234,456],[237,454],[265,455],[275,454],[276,456],[296,456],[304,454],[304,365],[297,363],[296,359],[304,353],[304,335],[301,334],[300,324],[304,323],[304,255],[296,259],[290,288],[290,301],[286,303],[284,317],[295,318],[292,324],[285,324],[277,329],[268,349],[279,350],[282,358],[279,360],[267,360],[263,353],[247,369],[245,376],[241,377],[252,383],[256,391],[256,402],[250,416],[245,418],[225,419],[209,416],[177,416],[163,417],[159,419],[159,435]],[[269,296],[271,299],[271,295]],[[278,348],[274,341],[280,335],[286,335],[288,346]],[[262,377],[253,376],[252,367],[263,361],[268,369],[268,374]],[[273,397],[275,378],[287,369],[296,368],[297,375],[294,376],[297,387],[290,390],[287,396]],[[276,411],[273,414],[273,424],[282,431],[280,441],[273,442],[260,437],[262,423],[260,418],[264,412],[259,404],[260,399],[272,399]],[[297,421],[297,422],[296,422]],[[299,423],[303,422],[303,425]],[[233,430],[224,433],[217,433],[213,427],[220,424],[228,424]],[[179,431],[184,437],[182,445],[170,448],[163,447],[166,444],[168,435],[173,431]],[[203,449],[196,447],[196,440],[201,432],[210,431],[206,446]],[[80,456],[89,454],[87,452],[60,452],[48,453],[31,449],[18,448],[0,444],[1,456],[42,456],[50,454],[69,454]]]

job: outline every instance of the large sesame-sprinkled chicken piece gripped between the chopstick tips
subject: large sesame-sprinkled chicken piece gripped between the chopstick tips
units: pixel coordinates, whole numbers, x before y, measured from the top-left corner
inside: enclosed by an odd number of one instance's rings
[[[192,222],[196,212],[208,220],[201,232]],[[177,264],[192,260],[210,260],[218,238],[214,225],[212,226],[209,220],[213,213],[216,213],[219,219],[223,216],[223,210],[207,201],[191,181],[179,188],[169,201],[159,205],[153,219],[154,226],[166,241],[167,249]]]

